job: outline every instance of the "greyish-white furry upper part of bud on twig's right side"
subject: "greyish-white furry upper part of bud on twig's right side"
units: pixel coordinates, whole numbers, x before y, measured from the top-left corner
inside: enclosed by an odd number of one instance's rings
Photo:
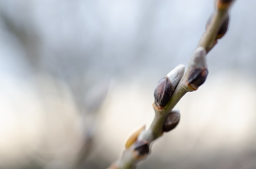
[[[203,47],[198,47],[188,61],[188,68],[197,67],[207,67],[206,50]]]

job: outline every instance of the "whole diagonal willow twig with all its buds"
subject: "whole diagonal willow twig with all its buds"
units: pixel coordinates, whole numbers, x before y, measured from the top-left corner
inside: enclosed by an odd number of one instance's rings
[[[173,108],[186,92],[197,90],[206,80],[206,54],[228,30],[228,10],[233,1],[216,0],[216,10],[209,18],[206,31],[188,61],[187,71],[184,73],[184,65],[178,65],[166,77],[160,79],[154,92],[155,117],[152,124],[148,130],[145,130],[144,126],[128,139],[122,157],[108,169],[135,168],[139,161],[148,156],[150,143],[178,125],[180,112]]]

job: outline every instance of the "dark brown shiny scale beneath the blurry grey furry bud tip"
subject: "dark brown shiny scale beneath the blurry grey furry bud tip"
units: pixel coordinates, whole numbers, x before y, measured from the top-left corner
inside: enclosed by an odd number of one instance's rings
[[[192,69],[188,74],[188,85],[197,89],[206,81],[207,75],[208,70],[206,68]]]

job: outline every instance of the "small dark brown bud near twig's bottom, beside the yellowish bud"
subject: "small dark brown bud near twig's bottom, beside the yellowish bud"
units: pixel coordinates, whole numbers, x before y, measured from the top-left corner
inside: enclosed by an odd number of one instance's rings
[[[149,144],[145,140],[135,141],[134,156],[136,158],[144,157],[149,153]]]

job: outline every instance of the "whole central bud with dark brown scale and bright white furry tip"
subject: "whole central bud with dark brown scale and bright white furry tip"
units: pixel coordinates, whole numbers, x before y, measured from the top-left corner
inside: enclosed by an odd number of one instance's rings
[[[170,100],[172,93],[184,75],[184,65],[180,64],[160,81],[154,92],[156,106],[164,107]]]

